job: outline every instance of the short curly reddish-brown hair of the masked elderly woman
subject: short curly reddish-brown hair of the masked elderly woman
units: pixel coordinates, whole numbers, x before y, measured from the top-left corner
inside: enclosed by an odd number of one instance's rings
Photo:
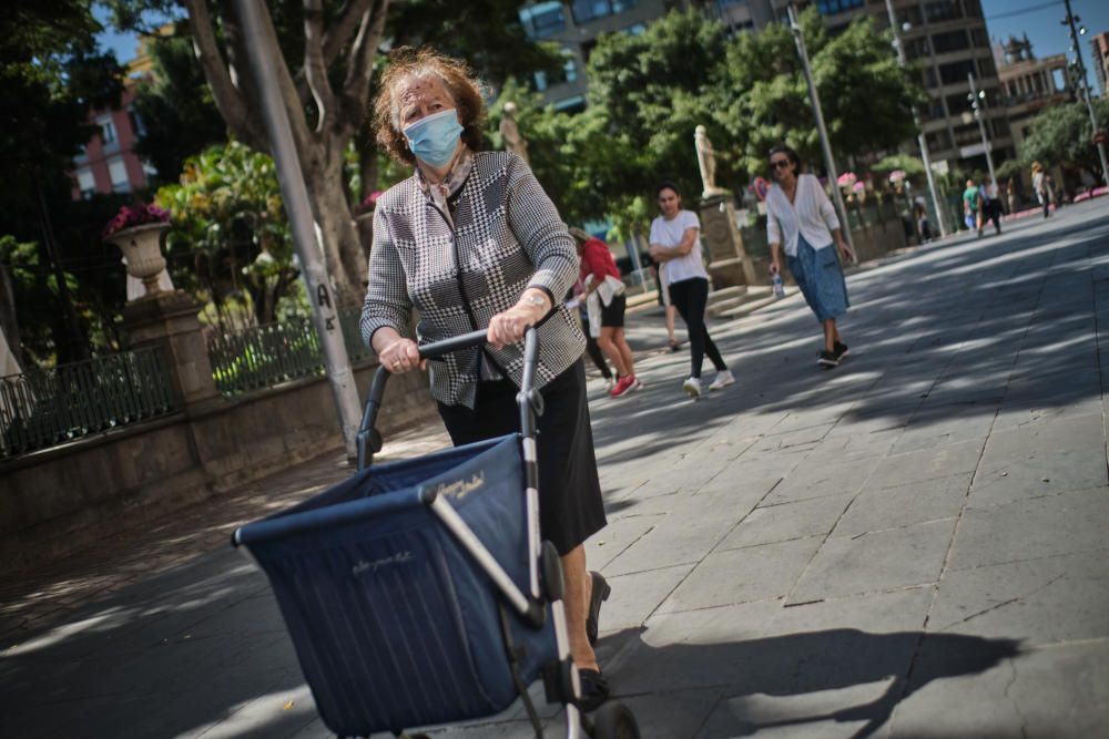
[[[413,78],[437,76],[455,101],[458,120],[462,124],[461,138],[470,150],[485,146],[485,102],[481,84],[474,72],[458,59],[423,48],[400,47],[389,54],[389,64],[381,74],[381,88],[374,103],[374,132],[377,142],[404,164],[416,164],[416,156],[408,148],[408,141],[400,125],[398,89]]]

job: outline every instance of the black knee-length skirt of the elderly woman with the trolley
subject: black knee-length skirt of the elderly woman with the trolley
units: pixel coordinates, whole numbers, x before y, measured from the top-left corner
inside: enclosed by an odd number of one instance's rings
[[[439,415],[456,445],[502,437],[520,430],[511,380],[481,382],[474,410],[439,403]],[[604,502],[597,476],[593,432],[586,403],[586,370],[581,359],[540,391],[546,411],[536,440],[539,456],[539,528],[560,555],[604,527]]]

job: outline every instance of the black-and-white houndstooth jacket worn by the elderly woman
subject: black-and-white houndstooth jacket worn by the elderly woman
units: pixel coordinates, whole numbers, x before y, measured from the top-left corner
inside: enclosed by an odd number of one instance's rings
[[[516,305],[528,287],[542,288],[557,308],[539,326],[536,382],[541,388],[586,347],[578,320],[562,304],[578,278],[573,239],[531,170],[515,154],[474,154],[474,168],[452,201],[454,228],[415,174],[378,198],[362,338],[369,345],[386,326],[413,338],[414,308],[419,342],[475,331]],[[480,351],[429,361],[431,394],[448,406],[472,408]],[[522,381],[522,342],[484,351],[513,382]]]

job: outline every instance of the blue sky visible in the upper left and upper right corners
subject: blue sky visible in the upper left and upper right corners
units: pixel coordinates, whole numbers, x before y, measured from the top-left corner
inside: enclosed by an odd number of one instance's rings
[[[1009,35],[1028,34],[1032,42],[1032,51],[1037,57],[1067,53],[1070,48],[1070,35],[1067,27],[1059,21],[1066,14],[1062,0],[981,0],[983,12],[986,16],[986,28],[990,37],[1005,41]],[[1082,58],[1086,61],[1087,76],[1090,90],[1097,91],[1097,79],[1090,66],[1091,50],[1089,39],[1102,31],[1109,31],[1109,2],[1107,0],[1071,0],[1071,9],[1082,19],[1082,25],[1089,31],[1081,37]],[[105,27],[101,34],[101,43],[112,49],[121,63],[134,59],[138,45],[132,33],[116,33],[108,22],[108,11],[101,7],[93,14]]]

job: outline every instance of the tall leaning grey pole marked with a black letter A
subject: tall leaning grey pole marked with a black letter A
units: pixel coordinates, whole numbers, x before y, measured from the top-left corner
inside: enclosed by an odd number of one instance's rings
[[[263,53],[267,47],[264,41],[266,34],[263,32],[262,17],[265,9],[261,0],[235,0],[235,6],[246,35],[244,45],[251,59],[251,68],[257,75],[256,82],[262,92],[262,110],[258,113],[265,123],[269,145],[273,148],[277,181],[281,184],[285,212],[288,214],[296,256],[301,260],[301,277],[304,279],[308,300],[312,302],[312,319],[319,336],[324,367],[327,370],[332,396],[343,428],[343,441],[346,444],[347,458],[355,459],[355,437],[362,422],[362,402],[358,400],[358,389],[355,387],[354,372],[350,371],[346,345],[343,342],[330,280],[323,264],[316,237],[316,224],[312,216],[312,206],[308,204],[308,189],[304,184],[301,160],[293,142],[293,129],[288,122],[277,72],[273,66],[275,63],[281,63],[281,60],[275,62]]]

